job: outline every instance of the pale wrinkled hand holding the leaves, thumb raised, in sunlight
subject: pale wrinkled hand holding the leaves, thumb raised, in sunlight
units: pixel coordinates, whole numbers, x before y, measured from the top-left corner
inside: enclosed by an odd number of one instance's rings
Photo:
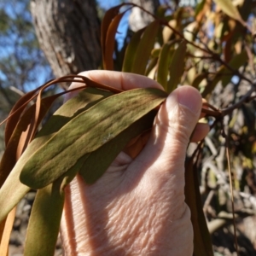
[[[155,81],[131,73],[90,71],[81,75],[122,90],[161,89]],[[65,255],[192,255],[184,161],[194,129],[194,142],[209,129],[198,123],[201,104],[197,90],[179,87],[160,107],[148,143],[136,157],[121,152],[92,185],[79,176],[73,180],[66,188],[61,218]]]

